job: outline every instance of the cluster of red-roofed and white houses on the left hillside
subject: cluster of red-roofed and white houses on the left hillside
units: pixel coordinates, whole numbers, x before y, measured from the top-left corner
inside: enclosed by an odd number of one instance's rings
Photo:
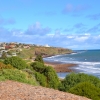
[[[24,44],[24,43],[18,43],[18,42],[1,42],[0,43],[0,57],[2,57],[2,54],[5,52],[7,56],[17,56],[16,52],[12,52],[11,55],[8,54],[9,51],[22,51],[22,48],[30,49],[31,46],[40,46],[35,44]],[[50,47],[49,45],[45,45],[45,47]]]

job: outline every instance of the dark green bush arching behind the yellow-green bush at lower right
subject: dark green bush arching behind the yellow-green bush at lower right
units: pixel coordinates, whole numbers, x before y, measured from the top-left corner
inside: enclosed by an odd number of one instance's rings
[[[83,73],[71,73],[67,75],[65,79],[62,81],[62,86],[59,88],[59,90],[68,91],[70,88],[74,87],[76,84],[81,82],[90,82],[94,84],[96,87],[100,88],[99,78]]]

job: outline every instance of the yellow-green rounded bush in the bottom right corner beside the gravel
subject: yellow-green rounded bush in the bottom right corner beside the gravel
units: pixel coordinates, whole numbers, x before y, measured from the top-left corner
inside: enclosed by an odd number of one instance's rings
[[[70,93],[85,96],[92,100],[99,100],[100,99],[100,89],[95,87],[90,82],[82,82],[77,84],[76,86],[72,87],[69,90]]]

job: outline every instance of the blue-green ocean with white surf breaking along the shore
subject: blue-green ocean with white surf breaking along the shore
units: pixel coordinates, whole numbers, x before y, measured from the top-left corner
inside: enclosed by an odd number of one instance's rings
[[[100,50],[75,50],[72,54],[56,55],[44,58],[44,61],[74,63],[71,67],[76,73],[86,73],[100,78]],[[57,73],[64,78],[69,73]]]

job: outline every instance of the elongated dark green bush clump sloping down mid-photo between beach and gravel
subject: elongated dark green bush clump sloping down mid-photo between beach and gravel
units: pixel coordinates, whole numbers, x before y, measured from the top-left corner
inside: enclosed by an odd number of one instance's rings
[[[55,70],[52,67],[46,66],[41,62],[33,62],[31,66],[36,71],[36,79],[42,86],[54,89],[58,88],[60,81]],[[46,83],[44,84],[44,82]]]

